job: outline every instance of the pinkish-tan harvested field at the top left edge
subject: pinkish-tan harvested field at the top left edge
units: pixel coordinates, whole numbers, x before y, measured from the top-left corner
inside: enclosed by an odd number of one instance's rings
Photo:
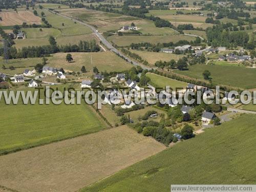
[[[0,17],[3,19],[0,22],[2,26],[22,25],[23,22],[27,24],[41,24],[41,18],[29,11],[18,11],[18,13],[14,11],[0,12]]]

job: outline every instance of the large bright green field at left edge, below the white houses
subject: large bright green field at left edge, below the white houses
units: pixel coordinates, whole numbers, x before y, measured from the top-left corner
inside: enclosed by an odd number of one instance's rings
[[[5,111],[0,119],[0,154],[106,128],[103,120],[84,102],[75,105],[37,102],[25,106],[22,101],[7,105],[2,100],[0,105]]]

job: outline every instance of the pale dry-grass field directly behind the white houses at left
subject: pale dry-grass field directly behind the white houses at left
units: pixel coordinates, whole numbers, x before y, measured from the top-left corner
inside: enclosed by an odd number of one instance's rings
[[[92,72],[93,67],[99,71],[124,71],[132,68],[132,64],[121,59],[110,51],[97,53],[71,53],[74,62],[67,62],[67,53],[56,53],[49,57],[49,67],[63,68],[70,71],[80,71],[82,66],[88,72]],[[103,60],[102,60],[103,59]]]

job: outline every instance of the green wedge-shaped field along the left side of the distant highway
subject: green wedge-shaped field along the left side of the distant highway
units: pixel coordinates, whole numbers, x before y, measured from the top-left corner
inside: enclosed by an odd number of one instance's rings
[[[46,14],[46,20],[48,20],[49,24],[51,24],[53,28],[60,30],[62,36],[74,36],[92,33],[90,28],[81,24],[75,24],[71,19],[55,15],[47,10],[44,12]],[[62,26],[62,24],[64,24],[64,26]]]

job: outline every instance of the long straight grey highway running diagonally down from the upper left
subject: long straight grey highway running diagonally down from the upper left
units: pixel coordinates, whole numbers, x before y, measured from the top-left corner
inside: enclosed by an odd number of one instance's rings
[[[49,10],[49,11],[50,11],[50,10]],[[50,11],[50,12],[52,12],[52,13],[55,14],[54,11]],[[128,62],[132,63],[134,66],[141,66],[142,69],[151,70],[151,68],[148,68],[148,67],[145,67],[145,66],[140,65],[138,62],[136,62],[136,61],[130,59],[129,57],[125,56],[125,55],[122,54],[120,51],[118,51],[116,48],[114,48],[114,47],[110,44],[110,42],[109,42],[108,40],[106,40],[106,39],[97,31],[97,29],[95,29],[93,26],[88,25],[87,23],[81,22],[81,20],[75,19],[75,18],[73,18],[73,17],[69,17],[69,16],[67,16],[67,15],[63,15],[63,14],[61,14],[61,13],[56,13],[56,14],[59,15],[59,16],[62,16],[62,17],[65,17],[65,18],[74,20],[76,23],[79,23],[79,24],[81,24],[81,25],[84,25],[84,26],[89,27],[89,28],[93,31],[93,33],[99,38],[99,40],[102,42],[102,44],[104,44],[108,49],[110,49],[110,50],[113,51],[114,53],[119,54],[120,56],[123,56],[124,58],[126,58],[126,60],[127,60]]]

